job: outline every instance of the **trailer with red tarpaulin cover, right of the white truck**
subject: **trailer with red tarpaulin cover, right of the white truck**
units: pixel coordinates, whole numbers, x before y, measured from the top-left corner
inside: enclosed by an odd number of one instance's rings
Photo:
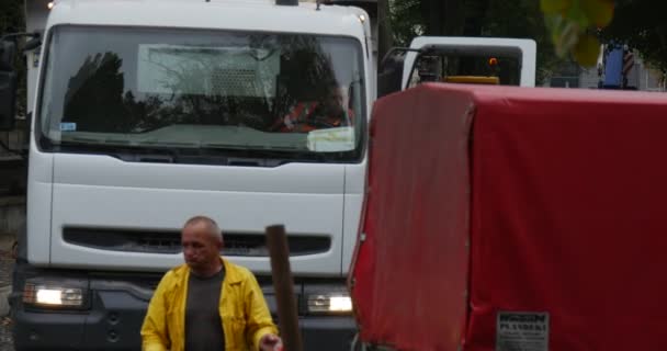
[[[349,280],[361,342],[667,349],[666,128],[658,93],[425,84],[378,100]]]

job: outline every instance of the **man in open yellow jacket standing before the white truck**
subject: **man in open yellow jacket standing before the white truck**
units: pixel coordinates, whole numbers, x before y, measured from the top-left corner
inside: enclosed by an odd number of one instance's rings
[[[219,256],[217,224],[190,218],[181,241],[185,264],[167,272],[150,299],[143,350],[278,350],[282,341],[255,275]]]

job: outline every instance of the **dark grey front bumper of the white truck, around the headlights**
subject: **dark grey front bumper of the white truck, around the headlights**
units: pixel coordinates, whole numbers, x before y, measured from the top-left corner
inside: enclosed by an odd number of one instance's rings
[[[57,275],[50,271],[45,276],[55,281]],[[61,278],[71,281],[72,275]],[[37,309],[22,302],[24,276],[19,271],[10,298],[16,351],[140,350],[139,331],[152,290],[109,278],[84,279],[90,286],[87,309]],[[273,309],[270,291],[265,290],[265,297]],[[352,316],[299,316],[299,325],[304,350],[349,350],[357,332]]]

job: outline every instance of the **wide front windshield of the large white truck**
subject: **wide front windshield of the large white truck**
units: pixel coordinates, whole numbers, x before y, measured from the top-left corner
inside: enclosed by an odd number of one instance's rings
[[[362,154],[354,38],[68,25],[52,31],[45,57],[37,133],[47,150]]]

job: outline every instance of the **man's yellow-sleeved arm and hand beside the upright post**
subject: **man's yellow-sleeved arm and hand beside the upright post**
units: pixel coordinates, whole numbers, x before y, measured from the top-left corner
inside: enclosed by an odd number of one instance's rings
[[[249,279],[246,282],[246,315],[248,316],[246,337],[252,342],[253,350],[261,350],[260,346],[262,342],[272,343],[273,340],[270,337],[264,337],[268,335],[278,336],[278,328],[273,324],[267,301],[257,283],[257,279],[252,273],[248,273]]]

